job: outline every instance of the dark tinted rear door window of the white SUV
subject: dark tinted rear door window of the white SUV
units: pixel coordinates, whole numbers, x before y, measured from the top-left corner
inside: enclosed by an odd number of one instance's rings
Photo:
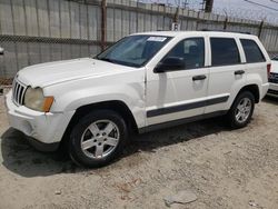
[[[228,66],[240,63],[237,43],[232,38],[210,38],[211,64]]]

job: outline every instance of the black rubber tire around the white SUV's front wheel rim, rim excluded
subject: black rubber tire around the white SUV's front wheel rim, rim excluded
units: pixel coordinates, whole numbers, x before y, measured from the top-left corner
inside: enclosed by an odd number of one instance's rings
[[[111,120],[120,131],[120,139],[116,149],[105,158],[93,159],[86,156],[81,149],[81,137],[83,131],[97,120]],[[112,110],[96,110],[83,117],[72,129],[69,141],[69,155],[79,166],[102,167],[110,163],[122,151],[128,138],[128,130],[125,120]]]

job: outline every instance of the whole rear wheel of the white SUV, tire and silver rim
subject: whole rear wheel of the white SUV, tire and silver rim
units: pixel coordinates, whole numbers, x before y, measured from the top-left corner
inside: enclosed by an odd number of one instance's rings
[[[254,94],[250,91],[240,92],[227,115],[229,126],[235,129],[246,127],[251,120],[254,108]]]

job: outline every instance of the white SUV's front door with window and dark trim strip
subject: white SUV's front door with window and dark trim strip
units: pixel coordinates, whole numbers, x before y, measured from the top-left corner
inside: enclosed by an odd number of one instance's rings
[[[147,69],[147,126],[190,118],[205,112],[209,73],[203,37],[178,42],[160,61],[180,58],[182,69]],[[175,60],[173,59],[173,60]]]

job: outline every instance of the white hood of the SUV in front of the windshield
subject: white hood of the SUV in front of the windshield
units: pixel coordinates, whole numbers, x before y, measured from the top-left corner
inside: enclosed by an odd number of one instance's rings
[[[69,80],[120,73],[130,67],[91,58],[54,61],[30,66],[20,70],[18,80],[31,87],[47,87]]]

